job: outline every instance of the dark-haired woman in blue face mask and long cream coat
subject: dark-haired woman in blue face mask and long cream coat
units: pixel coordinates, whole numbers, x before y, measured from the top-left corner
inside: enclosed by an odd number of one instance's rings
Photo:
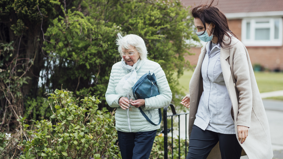
[[[215,6],[191,10],[202,47],[190,81],[187,159],[273,157],[269,125],[246,47]],[[218,144],[217,144],[218,143]],[[217,146],[215,146],[217,145]]]

